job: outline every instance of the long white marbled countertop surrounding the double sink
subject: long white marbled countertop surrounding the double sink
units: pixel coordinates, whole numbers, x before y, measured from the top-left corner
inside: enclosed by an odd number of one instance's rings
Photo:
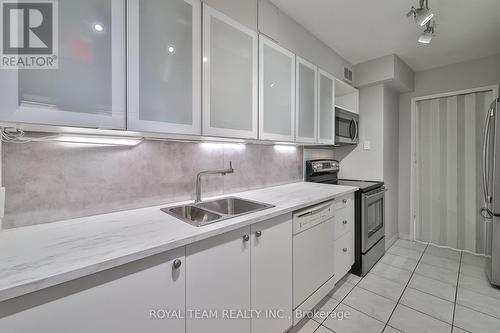
[[[352,193],[350,186],[293,183],[230,194],[274,205],[194,227],[156,207],[96,215],[0,232],[0,301]],[[229,194],[228,194],[229,195]],[[224,195],[224,196],[228,196]]]

